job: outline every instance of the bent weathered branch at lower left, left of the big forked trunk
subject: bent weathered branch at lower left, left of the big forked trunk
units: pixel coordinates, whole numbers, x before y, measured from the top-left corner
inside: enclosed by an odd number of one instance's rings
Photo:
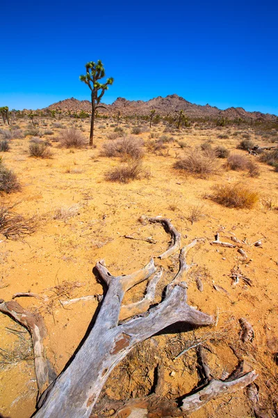
[[[38,384],[39,397],[42,392],[47,389],[52,380],[56,378],[56,373],[51,367],[49,360],[44,357],[44,346],[42,341],[44,336],[46,336],[47,331],[42,316],[26,311],[26,309],[22,308],[22,306],[14,300],[4,302],[3,299],[1,299],[0,312],[7,314],[20,325],[26,327],[31,334],[34,351],[35,377]]]

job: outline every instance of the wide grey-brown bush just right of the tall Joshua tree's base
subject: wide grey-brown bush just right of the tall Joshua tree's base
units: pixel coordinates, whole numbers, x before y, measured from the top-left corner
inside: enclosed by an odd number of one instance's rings
[[[142,141],[134,137],[124,137],[117,141],[105,142],[102,146],[101,155],[104,157],[122,157],[126,159],[140,160],[144,155]]]

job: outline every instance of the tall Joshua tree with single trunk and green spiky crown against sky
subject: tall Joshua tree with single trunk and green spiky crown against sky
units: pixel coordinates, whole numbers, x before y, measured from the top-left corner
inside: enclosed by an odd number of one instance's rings
[[[92,146],[94,141],[94,125],[96,111],[97,109],[99,109],[99,107],[105,108],[105,106],[100,104],[101,98],[106,92],[106,90],[108,90],[108,86],[111,86],[113,84],[114,79],[110,77],[106,80],[106,83],[104,84],[101,84],[99,82],[100,79],[105,77],[104,65],[103,63],[101,63],[100,60],[97,61],[97,63],[95,63],[94,61],[90,61],[90,63],[87,63],[85,65],[85,69],[86,75],[81,75],[79,78],[81,79],[81,82],[87,84],[91,91],[92,117],[89,144]]]

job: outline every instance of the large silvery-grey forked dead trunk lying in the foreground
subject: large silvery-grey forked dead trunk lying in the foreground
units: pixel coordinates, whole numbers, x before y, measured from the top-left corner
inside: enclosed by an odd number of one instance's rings
[[[133,346],[179,321],[213,323],[211,316],[186,304],[186,286],[178,284],[147,314],[119,325],[124,293],[155,272],[154,261],[128,276],[111,275],[104,263],[97,263],[96,270],[108,291],[95,325],[70,366],[58,376],[36,418],[90,417],[109,374]]]

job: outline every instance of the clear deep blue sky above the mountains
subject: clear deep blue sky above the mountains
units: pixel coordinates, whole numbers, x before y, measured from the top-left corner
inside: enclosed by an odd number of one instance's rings
[[[101,59],[106,103],[177,93],[278,114],[277,22],[277,0],[5,1],[0,106],[89,99],[79,75]]]

